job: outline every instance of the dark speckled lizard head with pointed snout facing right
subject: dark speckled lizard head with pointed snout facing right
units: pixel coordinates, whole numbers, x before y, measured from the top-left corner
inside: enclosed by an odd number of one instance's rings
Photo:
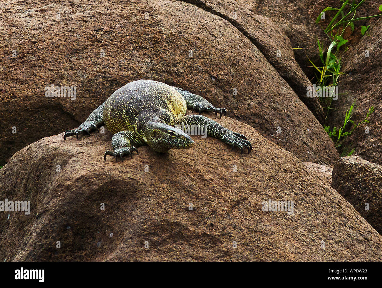
[[[173,148],[188,149],[195,144],[181,129],[159,122],[149,122],[144,134],[147,144],[156,152],[167,152]]]

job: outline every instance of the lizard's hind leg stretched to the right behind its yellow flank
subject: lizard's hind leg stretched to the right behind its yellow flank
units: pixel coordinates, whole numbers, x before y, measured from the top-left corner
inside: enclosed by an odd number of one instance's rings
[[[192,109],[192,111],[197,111],[199,113],[201,112],[215,112],[215,116],[217,113],[220,114],[220,118],[222,118],[222,115],[227,114],[227,109],[225,108],[216,108],[214,105],[212,105],[210,102],[208,102],[206,99],[204,99],[202,96],[193,94],[188,92],[187,90],[181,89],[179,87],[173,87],[176,91],[178,91],[183,98],[186,101],[187,109]]]

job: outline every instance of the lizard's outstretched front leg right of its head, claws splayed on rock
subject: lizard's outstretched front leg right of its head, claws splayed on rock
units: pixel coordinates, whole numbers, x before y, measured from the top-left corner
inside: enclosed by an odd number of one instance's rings
[[[184,126],[183,126],[184,123]],[[186,125],[198,125],[201,129],[201,126],[207,128],[207,135],[220,139],[224,143],[227,143],[231,148],[238,147],[243,154],[244,147],[247,148],[248,153],[252,150],[251,143],[247,138],[240,133],[231,131],[230,129],[224,128],[222,125],[216,121],[207,118],[202,115],[186,115],[180,121],[180,125],[185,127]]]

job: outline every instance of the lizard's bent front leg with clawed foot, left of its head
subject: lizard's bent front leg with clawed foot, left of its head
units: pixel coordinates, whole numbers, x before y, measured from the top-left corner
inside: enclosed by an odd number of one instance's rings
[[[106,155],[115,157],[116,162],[118,161],[118,157],[120,157],[121,161],[123,161],[124,155],[130,155],[131,159],[133,159],[133,155],[131,153],[135,151],[139,154],[137,147],[144,144],[145,143],[134,131],[121,131],[115,133],[112,137],[112,146],[114,151],[106,150],[104,160],[106,160]]]

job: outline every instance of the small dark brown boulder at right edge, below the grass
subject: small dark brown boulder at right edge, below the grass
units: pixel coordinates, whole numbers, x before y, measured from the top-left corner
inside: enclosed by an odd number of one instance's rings
[[[382,233],[382,166],[358,156],[341,157],[333,168],[332,187]]]

